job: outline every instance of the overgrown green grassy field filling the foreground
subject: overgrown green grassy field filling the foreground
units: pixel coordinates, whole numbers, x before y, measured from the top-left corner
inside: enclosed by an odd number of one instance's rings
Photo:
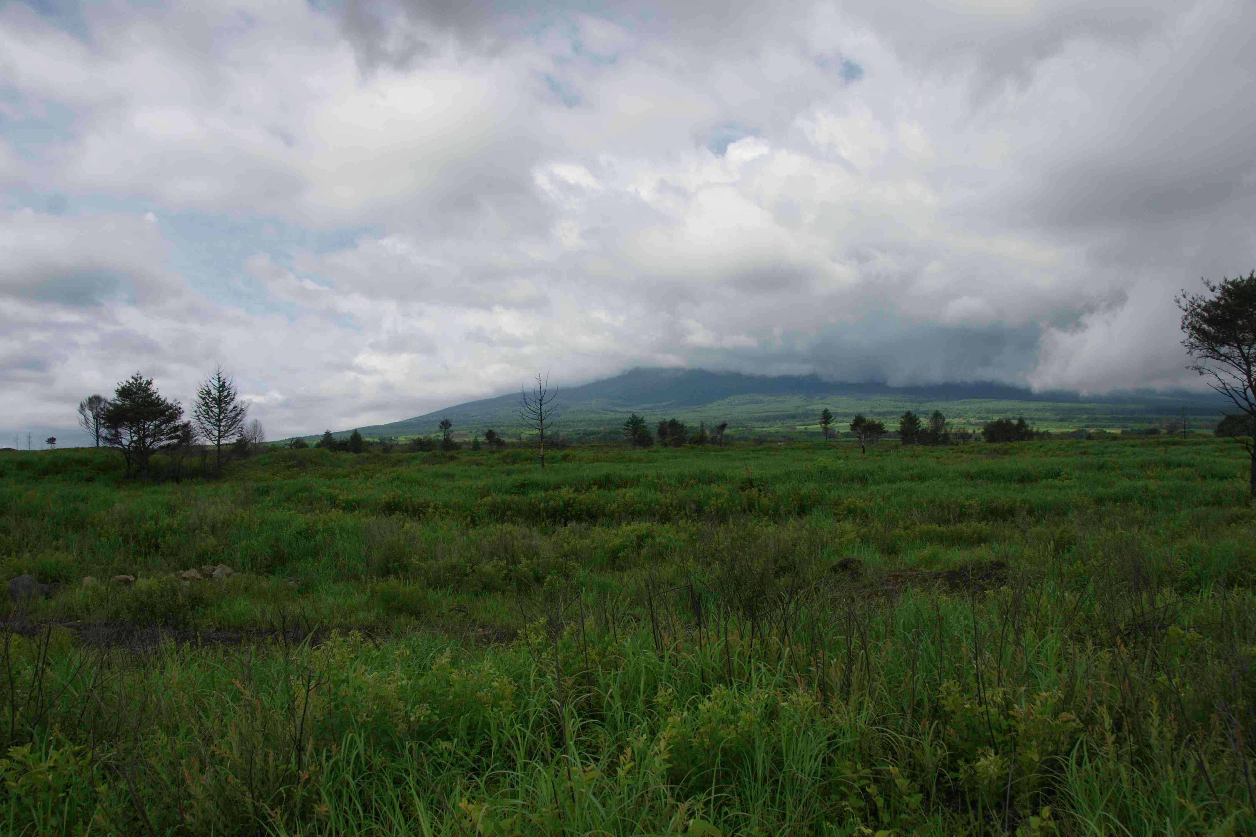
[[[546,464],[0,454],[5,833],[1256,829],[1240,445]]]

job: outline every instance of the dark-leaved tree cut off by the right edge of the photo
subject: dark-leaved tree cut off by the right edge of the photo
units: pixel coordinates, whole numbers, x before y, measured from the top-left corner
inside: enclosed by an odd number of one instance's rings
[[[1237,408],[1235,415],[1252,419],[1248,433],[1235,438],[1251,457],[1248,479],[1256,497],[1256,271],[1246,279],[1206,279],[1203,286],[1207,294],[1183,290],[1174,300],[1182,311],[1182,345],[1192,360],[1187,369],[1208,378],[1208,387]]]

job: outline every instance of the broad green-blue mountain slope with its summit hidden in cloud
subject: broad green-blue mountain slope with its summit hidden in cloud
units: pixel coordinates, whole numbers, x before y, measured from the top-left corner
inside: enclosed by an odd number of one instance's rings
[[[816,375],[769,378],[702,369],[633,369],[570,389],[558,385],[558,428],[578,437],[615,428],[629,413],[651,422],[674,417],[695,424],[728,422],[735,429],[772,430],[814,425],[825,407],[839,425],[857,412],[897,422],[908,409],[926,414],[941,409],[956,424],[1022,414],[1040,427],[1138,427],[1163,424],[1179,417],[1184,407],[1193,424],[1211,428],[1223,407],[1216,397],[1186,392],[1128,392],[1081,400],[1076,393],[1032,393],[992,383],[888,387],[834,383]],[[430,435],[438,432],[437,424],[445,418],[460,434],[492,428],[514,438],[521,429],[519,393],[358,429],[367,438]],[[344,438],[349,433],[352,429],[333,435]]]

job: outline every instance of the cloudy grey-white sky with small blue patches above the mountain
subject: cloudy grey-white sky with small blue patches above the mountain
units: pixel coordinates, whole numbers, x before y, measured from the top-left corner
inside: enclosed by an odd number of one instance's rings
[[[0,445],[216,363],[271,438],[644,366],[1197,385],[1256,3],[0,0]]]

